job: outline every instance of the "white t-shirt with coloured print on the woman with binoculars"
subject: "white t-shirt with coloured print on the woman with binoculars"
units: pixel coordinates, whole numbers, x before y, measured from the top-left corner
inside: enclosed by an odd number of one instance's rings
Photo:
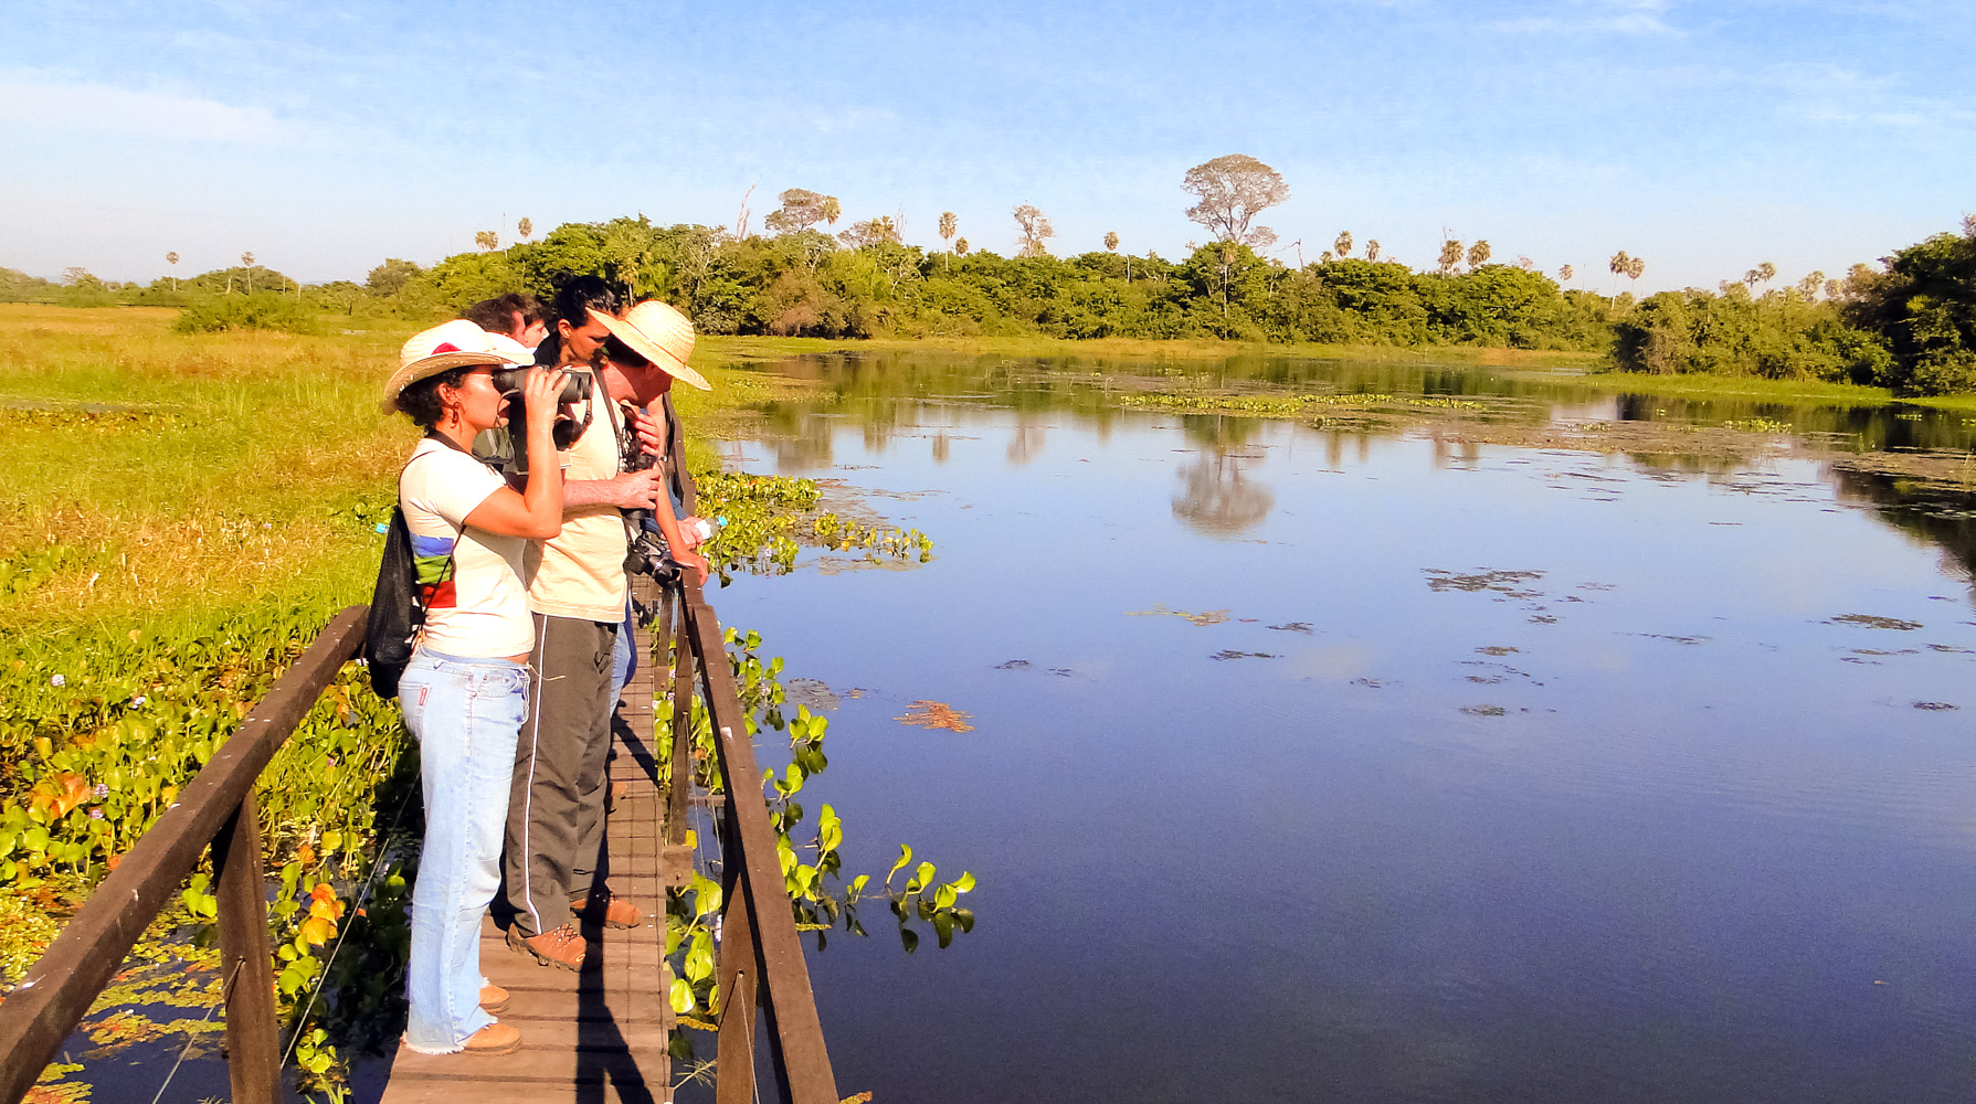
[[[433,438],[419,442],[397,476],[433,652],[486,660],[535,646],[522,587],[528,539],[466,525],[466,515],[504,486],[486,464]]]

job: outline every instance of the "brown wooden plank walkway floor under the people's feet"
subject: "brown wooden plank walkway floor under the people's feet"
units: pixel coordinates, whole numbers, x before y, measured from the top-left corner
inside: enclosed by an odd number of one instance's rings
[[[656,587],[638,579],[640,602]],[[672,1100],[666,1041],[674,1027],[666,993],[666,883],[678,883],[690,855],[664,847],[666,794],[654,782],[652,699],[656,673],[646,660],[652,636],[634,644],[640,668],[624,687],[611,760],[613,786],[607,869],[611,889],[646,914],[634,930],[583,926],[589,942],[581,974],[537,966],[508,950],[492,918],[480,928],[480,972],[512,993],[502,1023],[522,1031],[522,1051],[498,1059],[421,1055],[403,1045],[391,1061],[381,1104],[468,1100],[474,1104],[660,1104]]]

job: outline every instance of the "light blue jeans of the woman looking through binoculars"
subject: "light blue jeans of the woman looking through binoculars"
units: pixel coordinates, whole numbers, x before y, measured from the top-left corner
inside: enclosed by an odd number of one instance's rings
[[[397,683],[419,741],[425,845],[411,887],[405,1045],[451,1055],[494,1017],[480,1007],[480,912],[500,885],[528,668],[419,650]]]

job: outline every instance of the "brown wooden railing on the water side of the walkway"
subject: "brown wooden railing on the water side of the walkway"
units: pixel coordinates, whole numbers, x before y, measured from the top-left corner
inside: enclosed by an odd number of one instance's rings
[[[747,733],[747,715],[735,693],[733,671],[721,624],[700,592],[692,573],[680,581],[680,624],[674,640],[692,650],[700,664],[707,721],[717,737],[727,802],[721,810],[721,948],[719,948],[719,1041],[717,1104],[749,1104],[755,1098],[755,1005],[767,1013],[769,1053],[781,1098],[788,1104],[838,1104],[836,1074],[824,1047],[824,1025],[810,989],[810,970],[802,958],[796,916],[788,905],[775,829],[761,800],[761,768]],[[668,626],[672,628],[672,626]],[[674,668],[674,758],[672,806],[684,806],[684,786],[692,784],[686,758],[686,723],[692,679],[684,656]]]

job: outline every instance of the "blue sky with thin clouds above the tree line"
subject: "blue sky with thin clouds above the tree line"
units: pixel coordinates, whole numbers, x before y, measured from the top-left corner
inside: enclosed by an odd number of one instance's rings
[[[1646,259],[1642,290],[1842,273],[1976,211],[1976,2],[0,4],[0,265],[304,280],[476,229],[943,209],[1008,253],[1166,257],[1180,178],[1243,152],[1316,259]],[[1294,263],[1296,251],[1280,253]]]

